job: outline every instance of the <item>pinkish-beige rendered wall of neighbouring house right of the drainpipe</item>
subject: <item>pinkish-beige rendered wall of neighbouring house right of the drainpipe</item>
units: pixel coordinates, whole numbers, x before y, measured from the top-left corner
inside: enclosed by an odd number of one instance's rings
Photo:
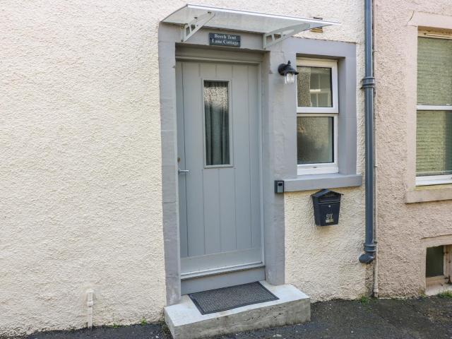
[[[379,291],[383,297],[414,296],[424,290],[424,238],[452,234],[452,202],[405,204],[408,165],[407,140],[411,72],[416,38],[408,22],[414,12],[451,16],[449,0],[376,0],[375,76],[376,123],[379,158],[378,238]],[[452,20],[452,19],[451,19]],[[450,22],[450,21],[449,21]],[[395,48],[396,47],[396,48]],[[413,65],[415,67],[415,65]],[[414,164],[413,164],[414,166]]]

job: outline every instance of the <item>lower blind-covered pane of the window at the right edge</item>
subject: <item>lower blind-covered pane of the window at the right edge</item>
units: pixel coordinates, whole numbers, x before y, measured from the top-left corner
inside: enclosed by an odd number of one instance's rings
[[[416,174],[452,174],[452,111],[417,111]]]

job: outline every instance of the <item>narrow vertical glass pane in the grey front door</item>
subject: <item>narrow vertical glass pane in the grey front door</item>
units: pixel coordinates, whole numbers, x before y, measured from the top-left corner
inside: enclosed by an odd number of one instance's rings
[[[230,165],[227,81],[204,81],[206,165]]]

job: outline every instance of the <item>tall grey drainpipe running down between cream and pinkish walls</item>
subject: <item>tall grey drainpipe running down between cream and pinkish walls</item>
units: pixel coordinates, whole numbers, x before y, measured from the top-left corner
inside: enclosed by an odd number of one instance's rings
[[[376,246],[374,242],[374,88],[375,78],[372,56],[372,0],[364,0],[365,26],[365,75],[362,79],[364,88],[365,144],[366,144],[366,239],[364,254],[359,256],[362,263],[374,261]]]

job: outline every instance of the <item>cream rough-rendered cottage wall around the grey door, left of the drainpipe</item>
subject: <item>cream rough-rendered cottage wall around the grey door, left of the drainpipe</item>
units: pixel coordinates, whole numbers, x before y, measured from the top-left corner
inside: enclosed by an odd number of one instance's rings
[[[90,288],[94,325],[162,319],[157,37],[184,4],[2,1],[0,335],[86,326]],[[300,36],[356,44],[362,173],[362,1],[297,0],[290,13],[282,0],[198,4],[341,23]],[[364,186],[336,191],[340,224],[323,228],[314,191],[285,194],[285,280],[313,301],[368,292]]]

